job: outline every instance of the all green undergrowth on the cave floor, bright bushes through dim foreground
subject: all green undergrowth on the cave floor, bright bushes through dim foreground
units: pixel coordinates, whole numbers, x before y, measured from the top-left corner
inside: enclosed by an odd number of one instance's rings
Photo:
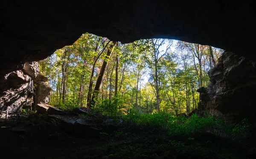
[[[169,159],[246,158],[239,142],[248,137],[247,119],[243,125],[227,125],[213,116],[201,118],[195,114],[186,118],[165,112],[136,111],[122,119],[123,127],[119,131],[101,133],[106,145],[94,147],[92,154],[107,154],[113,159],[147,159],[154,153]]]

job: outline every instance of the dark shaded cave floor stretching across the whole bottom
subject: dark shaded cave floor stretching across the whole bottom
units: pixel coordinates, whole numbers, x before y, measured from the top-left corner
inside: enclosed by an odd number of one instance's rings
[[[24,124],[24,123],[23,123]],[[22,127],[21,127],[22,128]],[[53,124],[26,125],[26,131],[0,127],[1,159],[254,159],[245,142],[212,134],[170,136],[158,128],[124,125],[86,139]],[[108,157],[107,157],[108,156]]]

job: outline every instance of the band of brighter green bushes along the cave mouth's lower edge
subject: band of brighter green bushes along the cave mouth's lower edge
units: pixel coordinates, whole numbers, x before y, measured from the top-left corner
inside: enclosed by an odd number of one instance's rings
[[[158,127],[169,132],[169,135],[198,135],[201,133],[212,133],[221,137],[232,139],[245,139],[248,137],[248,119],[244,119],[244,124],[237,124],[234,127],[226,124],[223,120],[214,116],[200,117],[194,114],[187,118],[185,116],[176,117],[174,114],[160,112],[154,114],[140,114],[131,110],[124,121],[137,126]]]

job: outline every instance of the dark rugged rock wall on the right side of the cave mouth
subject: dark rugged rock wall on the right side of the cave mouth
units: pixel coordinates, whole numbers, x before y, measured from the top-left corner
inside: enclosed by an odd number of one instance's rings
[[[209,72],[210,101],[206,110],[230,123],[249,118],[256,121],[256,63],[231,52],[224,52]]]

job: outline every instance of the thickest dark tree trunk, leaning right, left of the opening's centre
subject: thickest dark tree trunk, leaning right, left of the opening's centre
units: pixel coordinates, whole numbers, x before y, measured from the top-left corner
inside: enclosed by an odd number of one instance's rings
[[[99,77],[96,81],[96,85],[95,85],[95,88],[94,88],[93,96],[92,96],[92,99],[91,99],[91,105],[95,104],[95,98],[98,97],[100,86],[101,86],[102,79],[103,79],[103,75],[104,75],[106,67],[108,65],[108,60],[109,60],[109,58],[110,58],[110,56],[113,52],[113,48],[116,46],[116,43],[117,42],[113,42],[111,44],[111,46],[109,47],[108,52],[107,52],[107,58],[103,61],[102,67],[101,67],[100,72],[99,72]],[[91,105],[90,105],[90,107],[91,107]]]

